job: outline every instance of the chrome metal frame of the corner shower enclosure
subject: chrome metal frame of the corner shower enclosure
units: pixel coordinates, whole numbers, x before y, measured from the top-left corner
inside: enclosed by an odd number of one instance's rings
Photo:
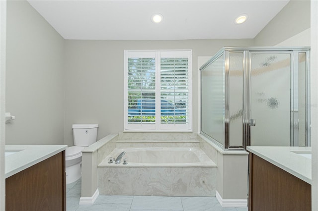
[[[242,143],[241,145],[231,145],[230,143],[230,112],[229,112],[229,73],[230,73],[230,54],[231,53],[242,53],[243,55],[243,67],[242,67]],[[295,135],[299,130],[298,117],[299,113],[297,109],[295,110],[295,97],[298,96],[298,90],[295,84],[298,80],[298,59],[299,53],[306,53],[306,146],[311,145],[310,134],[310,48],[308,47],[250,47],[250,48],[240,48],[240,47],[224,47],[218,53],[216,53],[211,59],[209,59],[205,64],[200,67],[201,71],[201,81],[202,81],[202,71],[212,64],[216,59],[223,56],[223,71],[224,71],[224,143],[216,141],[213,137],[202,131],[202,118],[201,118],[201,134],[212,140],[215,144],[222,147],[224,150],[244,150],[246,146],[251,144],[251,126],[252,126],[252,116],[251,116],[251,102],[250,102],[250,88],[251,88],[251,55],[253,53],[284,53],[290,54],[290,146],[298,146],[299,139]],[[202,93],[202,85],[201,85]],[[202,99],[202,94],[201,94]],[[202,101],[202,100],[201,100]],[[202,105],[201,105],[202,106]],[[202,116],[202,109],[201,109]]]

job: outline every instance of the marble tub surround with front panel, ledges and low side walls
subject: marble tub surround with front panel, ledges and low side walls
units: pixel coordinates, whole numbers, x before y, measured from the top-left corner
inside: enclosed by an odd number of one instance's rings
[[[217,191],[218,201],[223,207],[246,207],[247,205],[248,153],[246,151],[224,151],[196,133],[124,132],[110,134],[102,140],[85,148],[83,152],[82,181],[85,183],[82,186],[80,201],[82,204],[93,204],[99,194],[145,195],[146,189],[154,187],[154,190],[148,191],[147,195],[216,196]],[[113,167],[115,164],[112,166],[108,164],[109,157],[114,158],[120,154],[120,152],[118,155],[112,153],[115,148],[183,147],[200,149],[212,160],[213,164],[210,167],[204,165],[194,167],[193,163],[190,166],[180,163],[172,166],[171,163],[174,161],[171,160],[169,167],[167,163],[157,164],[154,167],[153,163],[131,162],[131,158],[127,160],[128,165],[121,163]],[[84,179],[86,174],[88,174],[87,180]],[[167,175],[170,176],[167,177]],[[124,192],[121,189],[123,183],[129,185]],[[165,184],[162,185],[163,183]],[[116,190],[119,191],[116,192]]]

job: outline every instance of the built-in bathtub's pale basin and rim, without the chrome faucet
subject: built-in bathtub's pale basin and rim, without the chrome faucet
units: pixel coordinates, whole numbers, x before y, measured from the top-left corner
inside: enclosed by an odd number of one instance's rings
[[[126,152],[122,158],[127,158],[127,165],[108,163],[108,159],[117,158],[121,152]],[[98,167],[184,167],[201,166],[216,167],[200,148],[161,147],[161,148],[115,148],[109,156],[104,158]]]

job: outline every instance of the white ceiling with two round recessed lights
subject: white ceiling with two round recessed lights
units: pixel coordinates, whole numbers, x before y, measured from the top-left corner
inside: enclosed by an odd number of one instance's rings
[[[289,0],[28,1],[65,39],[185,40],[252,39]],[[240,14],[248,19],[238,25]]]

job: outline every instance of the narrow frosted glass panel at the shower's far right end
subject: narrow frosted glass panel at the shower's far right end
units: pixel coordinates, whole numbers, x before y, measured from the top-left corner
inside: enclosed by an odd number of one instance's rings
[[[298,54],[298,62],[299,146],[306,147],[306,53]]]

